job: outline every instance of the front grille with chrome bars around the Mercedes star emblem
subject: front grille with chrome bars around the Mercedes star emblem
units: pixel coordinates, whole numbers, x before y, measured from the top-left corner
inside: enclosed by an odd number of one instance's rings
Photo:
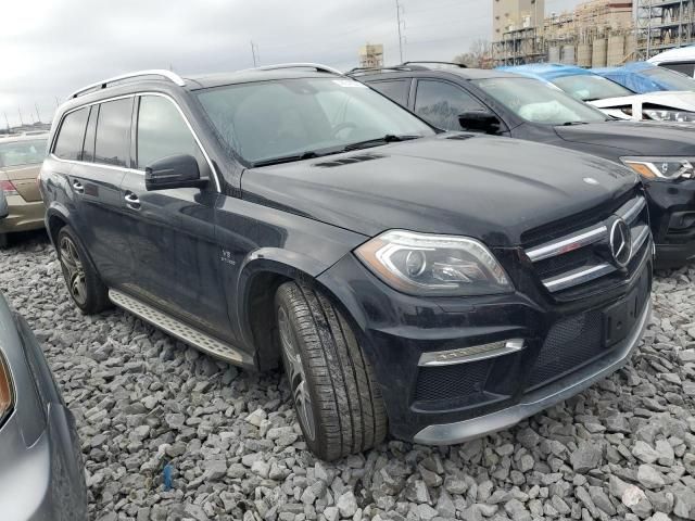
[[[589,282],[618,275],[624,279],[630,274],[634,259],[642,258],[645,244],[649,244],[649,218],[646,200],[642,193],[624,201],[602,218],[587,223],[578,217],[581,227],[574,227],[568,234],[549,232],[544,241],[526,247],[526,253],[539,279],[554,294],[573,291]],[[630,228],[632,256],[621,271],[610,252],[610,230],[616,220],[622,219]],[[560,227],[560,229],[565,229]],[[627,234],[627,233],[626,233]]]

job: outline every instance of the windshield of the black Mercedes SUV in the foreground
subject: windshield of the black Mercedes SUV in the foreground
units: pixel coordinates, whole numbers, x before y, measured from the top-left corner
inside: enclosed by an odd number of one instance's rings
[[[203,90],[198,97],[223,139],[251,164],[434,134],[396,103],[352,79],[257,81]]]

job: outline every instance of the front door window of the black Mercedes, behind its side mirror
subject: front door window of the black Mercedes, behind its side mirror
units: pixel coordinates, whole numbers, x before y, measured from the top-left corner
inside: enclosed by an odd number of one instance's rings
[[[166,98],[143,96],[138,111],[138,168],[169,155],[203,155],[180,113]]]

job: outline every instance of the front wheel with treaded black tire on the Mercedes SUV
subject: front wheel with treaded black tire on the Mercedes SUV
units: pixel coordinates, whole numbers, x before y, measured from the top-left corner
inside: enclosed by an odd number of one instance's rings
[[[343,315],[321,293],[287,282],[275,296],[285,370],[304,439],[330,461],[387,434],[379,385]]]

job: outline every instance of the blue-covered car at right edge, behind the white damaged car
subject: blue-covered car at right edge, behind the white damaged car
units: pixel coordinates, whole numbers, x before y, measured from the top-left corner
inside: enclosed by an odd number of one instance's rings
[[[662,90],[695,91],[695,79],[649,62],[634,62],[622,67],[592,68],[592,73],[620,84],[639,94]]]

